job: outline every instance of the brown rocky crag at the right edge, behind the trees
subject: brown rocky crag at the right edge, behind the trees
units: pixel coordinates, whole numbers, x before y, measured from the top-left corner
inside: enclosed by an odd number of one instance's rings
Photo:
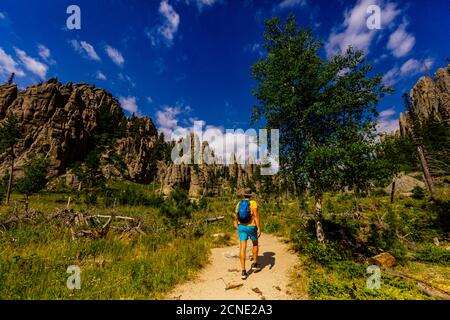
[[[434,80],[422,77],[410,92],[412,111],[419,121],[450,122],[450,65],[440,68]],[[411,133],[411,116],[400,114],[400,133]]]

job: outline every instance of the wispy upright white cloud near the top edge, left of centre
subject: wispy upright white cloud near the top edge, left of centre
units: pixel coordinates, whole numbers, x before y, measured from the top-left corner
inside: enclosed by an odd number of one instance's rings
[[[180,25],[180,15],[169,4],[168,0],[162,0],[160,2],[158,11],[162,17],[162,23],[151,31],[148,31],[147,36],[154,46],[158,45],[160,38],[162,38],[165,44],[170,47],[173,44],[175,34]]]

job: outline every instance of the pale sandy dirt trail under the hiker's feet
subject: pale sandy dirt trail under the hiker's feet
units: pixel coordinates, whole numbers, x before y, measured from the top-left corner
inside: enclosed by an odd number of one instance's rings
[[[198,277],[176,287],[168,299],[182,300],[261,300],[296,299],[290,293],[289,279],[293,267],[298,263],[295,253],[278,238],[262,234],[259,260],[262,270],[251,272],[241,280],[239,245],[212,249],[210,263],[200,271]],[[247,247],[247,270],[251,261],[251,242]],[[226,290],[227,286],[238,287]]]

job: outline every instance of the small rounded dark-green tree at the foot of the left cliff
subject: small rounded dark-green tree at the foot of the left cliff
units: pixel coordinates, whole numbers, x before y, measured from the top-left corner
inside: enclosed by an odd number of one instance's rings
[[[15,189],[27,197],[45,188],[50,161],[40,155],[33,156],[24,167],[25,175],[16,182]]]

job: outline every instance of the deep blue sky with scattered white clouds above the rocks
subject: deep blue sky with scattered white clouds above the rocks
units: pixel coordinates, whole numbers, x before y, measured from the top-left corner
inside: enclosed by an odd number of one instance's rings
[[[66,27],[71,4],[81,9],[80,30]],[[371,4],[381,8],[380,30],[366,26]],[[401,93],[448,64],[449,7],[444,0],[2,0],[0,82],[15,71],[21,88],[54,76],[95,84],[166,133],[193,120],[246,129],[264,19],[293,12],[324,40],[324,57],[353,44],[396,88],[379,105],[386,131],[403,111]]]

